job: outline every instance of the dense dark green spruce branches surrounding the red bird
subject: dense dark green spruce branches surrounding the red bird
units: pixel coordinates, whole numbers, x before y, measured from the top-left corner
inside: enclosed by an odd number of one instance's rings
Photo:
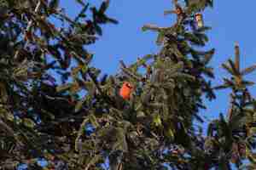
[[[160,52],[120,61],[112,76],[101,76],[86,50],[102,25],[118,23],[105,14],[109,1],[73,1],[81,7],[75,18],[59,3],[0,3],[0,169],[256,168],[256,101],[244,79],[256,65],[240,68],[236,44],[235,60],[222,65],[230,77],[212,87],[215,50],[202,50],[211,29],[202,13],[212,0],[174,0],[165,11],[177,17],[173,26],[142,28],[158,34]],[[204,134],[203,99],[222,88],[231,89],[230,110]]]

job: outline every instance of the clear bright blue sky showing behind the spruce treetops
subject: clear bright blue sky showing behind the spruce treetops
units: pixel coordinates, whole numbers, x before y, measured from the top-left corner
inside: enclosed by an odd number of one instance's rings
[[[90,3],[99,5],[102,0],[91,0]],[[62,1],[63,6],[68,7],[67,13],[74,15],[77,6],[73,1]],[[221,77],[226,72],[220,64],[230,56],[234,57],[234,43],[239,42],[241,47],[241,66],[256,64],[256,48],[254,31],[256,24],[253,16],[256,15],[256,2],[247,1],[217,1],[214,8],[208,8],[204,14],[205,24],[212,26],[208,32],[210,42],[207,48],[216,48],[216,54],[212,59],[216,74],[214,84],[221,82]],[[158,26],[172,26],[175,16],[164,16],[166,9],[172,8],[171,0],[117,0],[111,1],[108,8],[109,16],[119,20],[119,25],[103,26],[103,36],[88,49],[95,54],[93,65],[101,68],[104,73],[113,74],[119,71],[119,59],[125,63],[132,63],[143,54],[157,53],[159,48],[154,41],[156,34],[150,31],[143,32],[144,24],[156,24]],[[255,72],[256,73],[256,72]],[[255,81],[256,74],[250,78]],[[255,93],[255,88],[251,88]],[[227,91],[219,91],[218,100],[208,105],[204,115],[216,117],[219,112],[226,112],[228,106]],[[207,102],[208,104],[208,102]]]

